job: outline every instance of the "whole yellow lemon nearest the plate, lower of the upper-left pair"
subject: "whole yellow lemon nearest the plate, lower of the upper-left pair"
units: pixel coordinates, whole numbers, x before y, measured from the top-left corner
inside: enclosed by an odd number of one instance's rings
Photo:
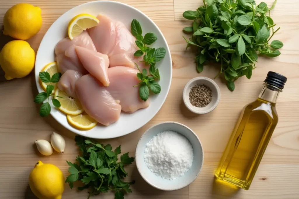
[[[0,66],[7,80],[25,77],[32,71],[34,63],[35,52],[27,41],[10,41],[0,52]]]

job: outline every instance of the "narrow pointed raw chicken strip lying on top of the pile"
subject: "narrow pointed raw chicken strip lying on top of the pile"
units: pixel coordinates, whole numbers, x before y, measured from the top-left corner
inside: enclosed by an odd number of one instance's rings
[[[80,46],[76,46],[75,50],[83,67],[104,86],[109,86],[107,71],[109,67],[108,56]]]

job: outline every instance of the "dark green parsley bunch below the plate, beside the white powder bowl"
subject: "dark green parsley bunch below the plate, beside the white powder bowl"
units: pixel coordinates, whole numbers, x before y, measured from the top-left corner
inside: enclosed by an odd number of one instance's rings
[[[79,135],[75,137],[75,141],[82,155],[76,158],[78,163],[67,161],[70,175],[65,182],[69,183],[71,189],[75,181],[81,181],[85,185],[78,187],[78,190],[89,188],[89,197],[112,190],[115,192],[115,199],[123,199],[125,192],[132,192],[129,187],[134,181],[122,181],[128,175],[123,167],[131,164],[135,158],[124,153],[118,161],[120,146],[113,151],[110,144],[104,146]]]

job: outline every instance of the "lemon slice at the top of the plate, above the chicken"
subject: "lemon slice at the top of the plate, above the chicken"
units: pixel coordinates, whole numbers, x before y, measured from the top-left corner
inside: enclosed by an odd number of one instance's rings
[[[68,23],[68,37],[73,39],[87,28],[96,26],[100,21],[90,14],[80,14]]]

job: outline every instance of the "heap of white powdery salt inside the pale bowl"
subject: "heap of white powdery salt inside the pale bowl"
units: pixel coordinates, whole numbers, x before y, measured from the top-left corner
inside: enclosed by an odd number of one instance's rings
[[[144,161],[156,175],[173,180],[190,169],[193,148],[183,135],[174,131],[164,131],[146,144]]]

